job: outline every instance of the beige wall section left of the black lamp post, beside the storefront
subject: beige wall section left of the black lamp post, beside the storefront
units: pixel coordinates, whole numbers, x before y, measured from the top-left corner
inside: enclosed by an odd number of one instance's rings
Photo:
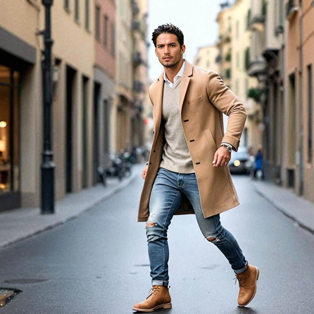
[[[5,1],[4,7],[0,10],[0,23],[1,27],[36,49],[35,65],[30,66],[21,75],[20,95],[21,202],[22,206],[34,206],[40,202],[42,153],[40,88],[42,36],[36,35],[36,32],[41,29],[40,6],[36,7],[25,0],[16,2]]]

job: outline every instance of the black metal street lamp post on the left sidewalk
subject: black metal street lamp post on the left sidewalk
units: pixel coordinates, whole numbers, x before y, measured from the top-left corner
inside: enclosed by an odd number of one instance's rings
[[[42,0],[45,6],[45,30],[44,35],[45,53],[42,62],[42,85],[43,85],[43,159],[41,164],[41,214],[54,213],[54,169],[51,148],[51,104],[52,104],[52,79],[51,79],[51,39],[50,8],[53,0]]]

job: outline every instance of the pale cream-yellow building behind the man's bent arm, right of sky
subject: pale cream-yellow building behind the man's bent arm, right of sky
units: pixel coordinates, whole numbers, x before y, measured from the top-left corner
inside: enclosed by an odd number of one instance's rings
[[[225,84],[237,95],[246,108],[247,119],[241,146],[257,151],[262,146],[263,112],[251,91],[257,89],[258,80],[247,73],[250,58],[252,31],[248,28],[251,0],[236,0],[233,5],[222,4],[217,16],[219,23],[219,73]]]

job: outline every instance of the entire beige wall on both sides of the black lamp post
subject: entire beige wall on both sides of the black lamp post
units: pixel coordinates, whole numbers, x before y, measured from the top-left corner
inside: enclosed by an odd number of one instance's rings
[[[18,2],[18,5],[17,5]],[[65,10],[62,0],[55,0],[51,8],[52,61],[57,58],[59,75],[54,89],[52,105],[52,150],[55,162],[55,196],[65,195],[65,138],[66,138],[66,67],[75,69],[73,84],[73,191],[81,189],[82,177],[82,75],[89,78],[88,89],[88,137],[92,138],[92,80],[94,64],[94,1],[90,1],[90,26],[85,29],[84,1],[80,1],[80,19],[74,18],[74,1]],[[20,106],[20,176],[22,206],[40,206],[42,162],[42,77],[41,50],[43,36],[38,35],[45,25],[45,8],[41,1],[6,1],[0,11],[1,27],[33,46],[36,51],[35,65],[21,75]],[[88,185],[92,184],[92,141],[88,141]]]

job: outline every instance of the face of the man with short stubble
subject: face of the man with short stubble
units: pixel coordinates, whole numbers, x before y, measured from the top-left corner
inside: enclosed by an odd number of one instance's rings
[[[178,37],[175,34],[160,34],[156,38],[155,53],[159,62],[166,68],[178,64],[185,51],[185,45],[180,47]]]

